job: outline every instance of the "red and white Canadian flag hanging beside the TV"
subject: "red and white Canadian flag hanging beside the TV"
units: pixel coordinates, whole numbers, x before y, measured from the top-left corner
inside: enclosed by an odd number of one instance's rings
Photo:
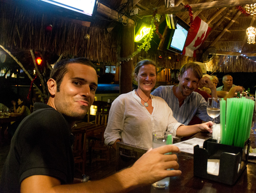
[[[204,43],[211,29],[212,28],[208,27],[207,23],[196,16],[193,21],[193,29],[188,32],[182,54],[196,57],[196,50]]]

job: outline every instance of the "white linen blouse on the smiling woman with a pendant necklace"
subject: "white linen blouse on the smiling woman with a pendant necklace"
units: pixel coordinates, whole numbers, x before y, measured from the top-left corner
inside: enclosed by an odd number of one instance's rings
[[[170,131],[176,135],[177,128],[183,124],[176,121],[164,99],[151,94],[150,97],[154,107],[152,114],[141,104],[135,90],[121,94],[113,101],[104,133],[106,145],[122,139],[123,143],[149,149],[152,147],[152,132]]]

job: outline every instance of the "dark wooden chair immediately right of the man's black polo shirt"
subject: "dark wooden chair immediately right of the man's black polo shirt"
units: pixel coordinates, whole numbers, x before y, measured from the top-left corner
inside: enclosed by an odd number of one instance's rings
[[[73,143],[74,162],[82,174],[85,174],[86,165],[86,134],[85,132],[77,132]]]

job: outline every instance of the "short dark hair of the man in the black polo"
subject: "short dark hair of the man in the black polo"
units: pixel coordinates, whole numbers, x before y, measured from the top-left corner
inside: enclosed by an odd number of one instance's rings
[[[59,92],[59,88],[62,82],[62,79],[64,75],[67,73],[67,65],[70,63],[77,63],[77,64],[84,64],[87,66],[91,66],[95,69],[95,66],[88,58],[69,58],[69,59],[63,59],[59,62],[57,62],[50,74],[50,78],[54,79],[57,84],[57,92]]]

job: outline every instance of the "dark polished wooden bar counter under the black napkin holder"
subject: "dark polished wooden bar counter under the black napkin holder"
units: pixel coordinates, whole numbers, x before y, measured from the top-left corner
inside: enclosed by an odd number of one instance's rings
[[[251,146],[255,148],[255,134],[251,133]],[[208,139],[210,136],[205,132],[200,132],[193,137]],[[256,164],[248,162],[247,168],[238,181],[233,186],[211,181],[208,179],[194,177],[193,174],[193,154],[177,154],[179,169],[182,171],[181,176],[170,177],[169,188],[158,189],[151,185],[143,186],[132,190],[137,193],[255,193],[256,192]]]

